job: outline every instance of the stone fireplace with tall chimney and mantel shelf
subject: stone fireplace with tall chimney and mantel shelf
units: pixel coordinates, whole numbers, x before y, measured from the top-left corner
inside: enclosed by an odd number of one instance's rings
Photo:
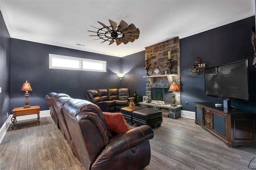
[[[171,51],[172,57],[172,69],[168,68],[168,51]],[[167,71],[167,74],[174,74],[169,77],[154,77],[151,83],[150,79],[146,80],[146,95],[148,96],[148,101],[152,100],[152,90],[151,88],[163,88],[165,90],[164,99],[166,104],[171,103],[172,92],[169,92],[170,83],[177,80],[178,87],[180,89],[180,39],[178,37],[166,40],[164,42],[157,43],[145,47],[145,52],[148,54],[148,62],[151,64],[150,69],[148,70],[149,75],[154,75],[154,70],[158,68],[161,75],[164,75]],[[180,105],[180,91],[176,91],[176,102],[177,105]]]

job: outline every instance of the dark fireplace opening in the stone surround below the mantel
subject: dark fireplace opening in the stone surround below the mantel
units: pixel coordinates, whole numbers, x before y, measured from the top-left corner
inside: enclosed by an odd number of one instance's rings
[[[172,93],[168,88],[151,88],[151,99],[164,101],[166,105],[171,103]]]

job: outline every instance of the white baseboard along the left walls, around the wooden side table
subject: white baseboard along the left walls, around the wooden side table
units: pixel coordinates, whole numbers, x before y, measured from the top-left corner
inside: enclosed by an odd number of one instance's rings
[[[46,116],[50,116],[50,110],[46,110],[46,111],[40,111],[40,117],[46,117]],[[0,143],[2,142],[4,135],[6,134],[8,128],[9,128],[9,124],[11,124],[11,117],[12,115],[10,115],[7,120],[5,121],[4,125],[0,128]],[[26,120],[26,119],[34,119],[37,118],[37,115],[26,115],[26,116],[18,116],[16,117],[17,121],[21,121],[21,120]]]

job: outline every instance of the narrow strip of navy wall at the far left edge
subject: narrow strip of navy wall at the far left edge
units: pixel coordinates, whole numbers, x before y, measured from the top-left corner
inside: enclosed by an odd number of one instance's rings
[[[0,13],[0,127],[10,114],[10,35]]]

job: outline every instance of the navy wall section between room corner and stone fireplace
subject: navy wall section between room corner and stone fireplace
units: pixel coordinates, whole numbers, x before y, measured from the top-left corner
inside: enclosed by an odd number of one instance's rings
[[[138,95],[146,95],[146,75],[145,69],[145,51],[141,51],[126,57],[122,57],[122,73],[125,73],[122,78],[122,87],[130,89],[130,96],[134,91]]]

